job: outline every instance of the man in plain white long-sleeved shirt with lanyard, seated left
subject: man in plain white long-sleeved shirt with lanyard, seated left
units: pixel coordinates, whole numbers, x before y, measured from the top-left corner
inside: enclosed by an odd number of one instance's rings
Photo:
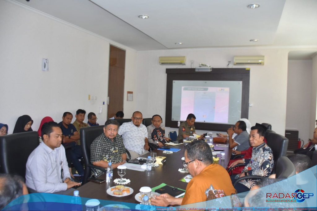
[[[70,180],[62,142],[62,131],[56,122],[42,126],[43,142],[30,154],[26,163],[26,186],[40,193],[63,193],[80,185]]]

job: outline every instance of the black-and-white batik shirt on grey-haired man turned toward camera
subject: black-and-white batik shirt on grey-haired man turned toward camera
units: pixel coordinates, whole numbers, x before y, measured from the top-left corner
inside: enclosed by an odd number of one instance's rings
[[[119,134],[111,141],[108,137],[102,133],[98,136],[90,145],[90,162],[98,162],[104,160],[111,163],[120,163],[122,161],[121,155],[126,153],[126,148],[123,145],[122,138]],[[94,170],[97,173],[94,173]],[[94,177],[98,177],[104,174],[103,171],[98,169],[92,170],[91,174]]]

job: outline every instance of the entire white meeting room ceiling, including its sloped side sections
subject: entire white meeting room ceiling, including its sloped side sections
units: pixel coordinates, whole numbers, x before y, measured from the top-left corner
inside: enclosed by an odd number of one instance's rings
[[[317,0],[15,1],[136,50],[317,45]]]

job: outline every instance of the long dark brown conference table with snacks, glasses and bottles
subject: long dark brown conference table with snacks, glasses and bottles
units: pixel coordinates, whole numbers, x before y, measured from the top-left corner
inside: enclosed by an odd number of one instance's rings
[[[214,143],[216,146],[217,143]],[[224,143],[218,143],[224,144]],[[225,143],[229,145],[229,143]],[[126,175],[123,178],[130,179],[130,183],[126,184],[133,189],[133,194],[116,197],[107,194],[107,189],[113,186],[116,186],[113,182],[114,179],[120,178],[118,175],[118,170],[113,169],[113,179],[110,182],[106,183],[95,183],[95,182],[87,182],[85,185],[77,188],[79,190],[79,195],[81,197],[86,198],[93,198],[93,199],[101,199],[101,200],[110,200],[110,201],[122,201],[122,202],[129,202],[129,203],[140,203],[135,200],[134,196],[139,193],[139,189],[143,186],[148,186],[150,188],[159,186],[162,183],[170,185],[172,187],[176,187],[179,189],[186,189],[187,182],[179,181],[184,176],[188,175],[189,173],[181,173],[178,169],[184,168],[181,158],[184,157],[184,145],[177,145],[177,146],[168,146],[171,148],[180,149],[178,152],[173,152],[172,154],[165,154],[163,150],[153,150],[152,152],[156,152],[157,156],[166,157],[166,161],[164,165],[159,165],[158,167],[152,167],[151,171],[136,171],[131,169],[126,169]],[[229,146],[222,147],[223,151],[226,152],[225,159],[219,158],[218,164],[223,166],[224,168],[227,167],[230,156],[231,156],[231,149]],[[143,155],[142,157],[150,156],[151,152]],[[217,157],[220,157],[220,154],[217,154]],[[217,162],[214,162],[217,163]],[[135,164],[137,165],[137,164]],[[99,176],[100,179],[106,179],[106,174]],[[69,195],[72,195],[70,193]],[[83,201],[84,202],[84,201]]]

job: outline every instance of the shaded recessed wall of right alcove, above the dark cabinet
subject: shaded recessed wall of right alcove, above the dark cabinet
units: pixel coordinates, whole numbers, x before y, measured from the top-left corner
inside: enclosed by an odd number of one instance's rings
[[[312,60],[288,61],[286,128],[298,130],[307,143],[310,129]]]

